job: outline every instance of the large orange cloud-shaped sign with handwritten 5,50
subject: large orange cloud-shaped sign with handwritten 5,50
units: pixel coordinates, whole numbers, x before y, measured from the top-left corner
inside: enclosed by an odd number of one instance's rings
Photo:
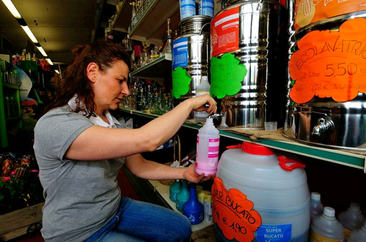
[[[366,93],[366,19],[344,22],[339,31],[312,31],[298,43],[289,72],[295,85],[290,98],[297,103],[314,95],[350,101]]]

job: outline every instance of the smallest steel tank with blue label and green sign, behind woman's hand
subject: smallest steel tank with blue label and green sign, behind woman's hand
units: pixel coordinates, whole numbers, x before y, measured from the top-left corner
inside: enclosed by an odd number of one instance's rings
[[[201,76],[208,76],[210,21],[208,16],[196,15],[179,22],[180,34],[172,43],[172,93],[175,98],[194,96]],[[183,83],[183,78],[187,78],[188,82]]]

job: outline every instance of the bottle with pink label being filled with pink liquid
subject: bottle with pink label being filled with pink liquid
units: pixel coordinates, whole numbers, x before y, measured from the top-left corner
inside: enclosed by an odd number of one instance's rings
[[[196,149],[196,173],[216,174],[219,162],[219,130],[215,128],[213,118],[208,117],[205,125],[198,130]]]

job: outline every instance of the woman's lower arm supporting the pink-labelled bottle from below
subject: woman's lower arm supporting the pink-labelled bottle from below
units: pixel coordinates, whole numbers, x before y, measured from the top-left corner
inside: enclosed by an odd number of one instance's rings
[[[189,167],[171,167],[151,160],[144,159],[141,154],[128,156],[125,158],[125,166],[136,176],[144,179],[186,179],[193,183],[199,183],[211,179],[213,176],[205,177],[202,173],[195,172],[195,165]]]

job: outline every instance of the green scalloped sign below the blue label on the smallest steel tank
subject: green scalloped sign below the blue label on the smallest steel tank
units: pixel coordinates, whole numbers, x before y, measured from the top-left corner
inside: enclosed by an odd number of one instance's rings
[[[177,67],[172,71],[173,77],[173,88],[172,95],[175,98],[179,98],[182,95],[185,95],[189,91],[189,84],[192,81],[192,78],[188,76],[187,70],[181,67]]]

